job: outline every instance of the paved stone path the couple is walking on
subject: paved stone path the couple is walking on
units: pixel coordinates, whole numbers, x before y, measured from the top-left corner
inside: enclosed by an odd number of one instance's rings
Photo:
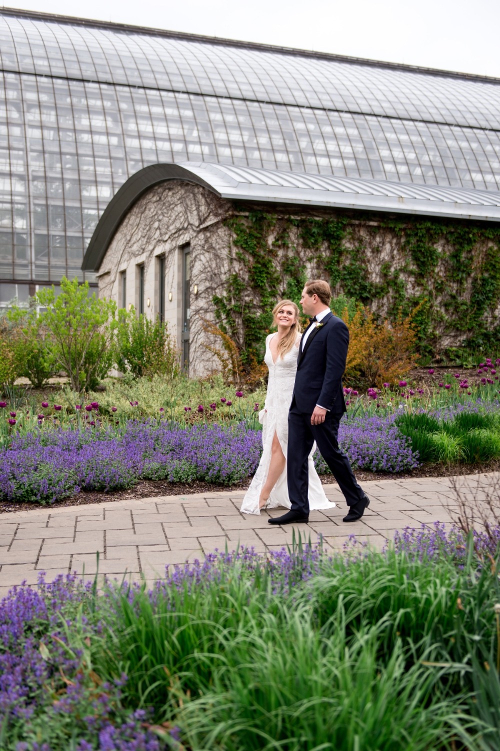
[[[293,529],[316,541],[323,535],[327,549],[339,549],[349,535],[381,547],[396,530],[436,521],[450,525],[459,499],[469,508],[495,498],[500,512],[497,475],[457,478],[412,478],[363,482],[372,503],[359,522],[344,524],[345,502],[337,485],[325,485],[337,502],[327,511],[313,511],[309,525],[276,527],[260,517],[239,513],[242,491],[161,496],[103,502],[68,508],[14,511],[0,517],[0,596],[26,581],[36,584],[41,571],[47,581],[60,573],[77,572],[152,583],[167,564],[192,561],[215,549],[233,550],[238,542],[259,552],[291,544]],[[270,514],[282,514],[274,509]],[[500,514],[499,514],[500,515]]]

